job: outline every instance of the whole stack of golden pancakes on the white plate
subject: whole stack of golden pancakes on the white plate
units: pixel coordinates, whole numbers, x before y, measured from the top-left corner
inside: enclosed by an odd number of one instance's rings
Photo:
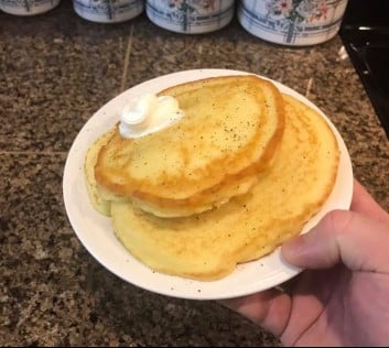
[[[256,76],[162,90],[185,117],[139,139],[109,130],[89,148],[94,207],[151,269],[215,280],[301,232],[334,186],[336,139],[316,111]]]

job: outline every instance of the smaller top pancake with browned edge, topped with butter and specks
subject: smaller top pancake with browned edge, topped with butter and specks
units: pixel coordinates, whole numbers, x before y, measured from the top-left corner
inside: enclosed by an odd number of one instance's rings
[[[95,167],[106,198],[128,196],[155,215],[186,216],[246,193],[282,137],[278,89],[255,76],[228,76],[160,95],[177,98],[185,117],[140,139],[123,139],[115,131]]]

